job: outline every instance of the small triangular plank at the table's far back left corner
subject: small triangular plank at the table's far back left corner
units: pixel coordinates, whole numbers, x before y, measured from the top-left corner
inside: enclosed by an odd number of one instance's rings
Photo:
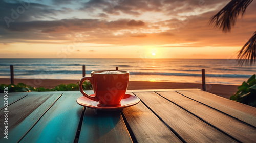
[[[8,95],[8,99],[7,99],[8,106],[10,106],[12,103],[14,103],[14,102],[18,101],[19,99],[22,99],[25,96],[27,96],[27,93],[8,93],[7,95]],[[1,99],[0,99],[0,103],[1,103],[0,104],[0,110],[4,109],[4,101],[5,101],[4,96],[5,96],[4,93],[0,94],[0,97],[1,97]]]

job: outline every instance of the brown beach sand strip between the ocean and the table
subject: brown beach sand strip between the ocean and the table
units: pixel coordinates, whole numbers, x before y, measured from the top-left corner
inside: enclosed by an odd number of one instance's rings
[[[54,88],[60,84],[77,83],[79,80],[58,80],[58,79],[14,79],[14,84],[25,83],[32,87]],[[0,78],[0,84],[10,84],[8,78]],[[238,85],[222,85],[222,84],[206,84],[206,91],[216,94],[224,98],[232,96],[237,92]],[[177,82],[147,82],[147,81],[129,81],[128,90],[134,89],[184,89],[184,88],[199,88],[202,89],[202,84],[199,83],[177,83]]]

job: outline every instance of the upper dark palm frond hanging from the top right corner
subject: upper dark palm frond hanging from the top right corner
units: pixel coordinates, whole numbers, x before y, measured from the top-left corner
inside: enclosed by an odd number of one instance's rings
[[[231,26],[234,26],[236,19],[241,13],[245,13],[247,6],[253,0],[231,0],[216,15],[210,18],[210,23],[214,23],[215,27],[222,29],[223,32],[229,32]]]

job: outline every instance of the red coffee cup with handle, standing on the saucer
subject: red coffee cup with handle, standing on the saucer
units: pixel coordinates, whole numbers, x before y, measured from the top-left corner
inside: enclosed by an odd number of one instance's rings
[[[89,80],[95,96],[90,96],[82,89],[82,83]],[[83,96],[98,101],[101,106],[119,105],[129,82],[129,71],[99,70],[92,71],[91,77],[83,77],[79,82],[79,90]]]

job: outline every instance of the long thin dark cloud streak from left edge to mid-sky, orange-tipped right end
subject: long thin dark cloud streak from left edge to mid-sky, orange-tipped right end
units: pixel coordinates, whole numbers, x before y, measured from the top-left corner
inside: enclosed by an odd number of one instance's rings
[[[6,31],[37,31],[40,33],[56,33],[67,31],[92,31],[97,29],[122,30],[136,29],[143,27],[143,21],[119,19],[115,21],[106,21],[98,19],[62,19],[53,21],[28,21],[14,22],[13,26],[5,27],[5,22],[0,22],[0,28]]]

